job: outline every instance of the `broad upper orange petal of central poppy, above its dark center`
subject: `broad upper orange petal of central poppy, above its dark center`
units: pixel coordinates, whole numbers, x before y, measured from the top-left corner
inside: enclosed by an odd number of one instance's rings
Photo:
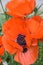
[[[2,26],[3,33],[10,35],[10,39],[16,40],[19,34],[24,34],[24,21],[20,18],[11,18]]]

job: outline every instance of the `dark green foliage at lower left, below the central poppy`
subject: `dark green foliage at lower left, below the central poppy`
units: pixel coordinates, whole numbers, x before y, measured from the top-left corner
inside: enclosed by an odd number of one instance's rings
[[[14,61],[14,56],[15,55],[10,55],[8,52],[4,52],[4,56],[2,56],[2,60],[3,62],[6,61],[8,63],[8,65],[20,65],[19,63],[17,63],[16,61]],[[2,63],[1,63],[2,65]]]

